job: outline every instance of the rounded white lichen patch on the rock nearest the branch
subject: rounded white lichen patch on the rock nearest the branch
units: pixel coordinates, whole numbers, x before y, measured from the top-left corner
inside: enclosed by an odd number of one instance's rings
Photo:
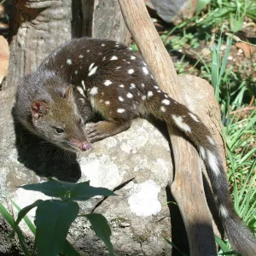
[[[153,181],[147,180],[144,183],[134,184],[128,198],[131,212],[137,216],[148,217],[161,211],[161,204],[158,200],[160,187]]]

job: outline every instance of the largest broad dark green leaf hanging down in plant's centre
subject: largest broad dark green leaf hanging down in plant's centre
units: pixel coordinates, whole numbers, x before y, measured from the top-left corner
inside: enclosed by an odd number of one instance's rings
[[[39,256],[60,253],[67,231],[78,214],[79,205],[74,201],[43,201],[38,206],[35,224]]]

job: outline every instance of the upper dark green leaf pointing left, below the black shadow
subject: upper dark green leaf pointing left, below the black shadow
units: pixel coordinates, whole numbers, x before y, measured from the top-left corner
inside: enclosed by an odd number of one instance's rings
[[[49,195],[53,197],[64,197],[66,195],[67,189],[62,183],[52,179],[45,183],[34,183],[29,185],[20,186],[21,189],[39,191],[44,193],[44,195]]]

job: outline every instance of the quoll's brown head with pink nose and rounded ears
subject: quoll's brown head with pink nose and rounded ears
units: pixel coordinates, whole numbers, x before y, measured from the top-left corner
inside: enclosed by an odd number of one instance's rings
[[[50,102],[33,101],[32,124],[42,137],[69,151],[86,151],[90,143],[84,133],[84,121],[73,100],[73,87],[55,93]]]

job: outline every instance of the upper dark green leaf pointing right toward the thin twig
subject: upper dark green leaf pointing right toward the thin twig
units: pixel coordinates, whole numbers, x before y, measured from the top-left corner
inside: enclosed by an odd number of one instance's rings
[[[70,190],[70,198],[72,200],[86,201],[96,195],[115,195],[113,191],[104,188],[91,187],[88,183],[76,183]]]

